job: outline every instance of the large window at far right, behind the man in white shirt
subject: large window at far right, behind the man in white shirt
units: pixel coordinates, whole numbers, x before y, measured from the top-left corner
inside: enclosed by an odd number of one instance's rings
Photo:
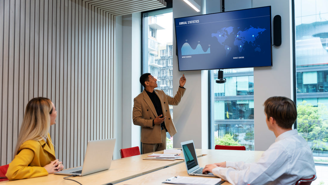
[[[328,162],[328,1],[295,0],[297,131]]]

